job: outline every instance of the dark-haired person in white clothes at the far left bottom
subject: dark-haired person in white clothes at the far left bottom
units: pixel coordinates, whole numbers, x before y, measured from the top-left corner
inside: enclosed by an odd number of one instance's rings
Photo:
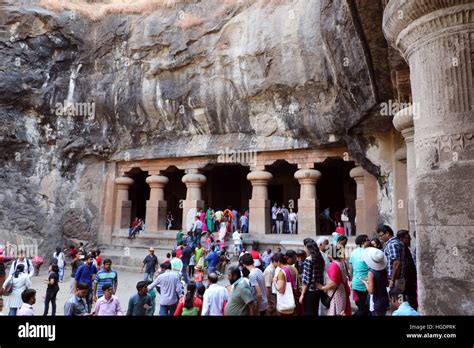
[[[8,295],[7,308],[8,315],[16,316],[18,309],[23,304],[21,294],[23,291],[31,287],[30,276],[25,273],[25,264],[18,263],[15,272],[11,274],[3,283],[3,294]]]

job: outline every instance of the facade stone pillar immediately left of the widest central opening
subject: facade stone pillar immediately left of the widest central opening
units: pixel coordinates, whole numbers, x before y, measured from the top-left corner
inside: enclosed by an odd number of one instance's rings
[[[198,173],[197,169],[188,169],[182,181],[186,184],[186,199],[183,202],[183,231],[189,231],[199,209],[204,209],[201,187],[206,177]]]

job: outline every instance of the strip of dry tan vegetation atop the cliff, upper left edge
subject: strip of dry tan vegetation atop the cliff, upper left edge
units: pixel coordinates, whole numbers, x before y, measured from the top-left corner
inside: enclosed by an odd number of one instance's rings
[[[108,14],[127,13],[147,15],[153,11],[172,8],[186,0],[38,0],[40,5],[51,11],[70,10],[99,20]]]

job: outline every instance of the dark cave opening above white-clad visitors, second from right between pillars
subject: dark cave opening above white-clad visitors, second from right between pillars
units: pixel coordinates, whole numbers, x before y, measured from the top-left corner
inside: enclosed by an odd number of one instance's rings
[[[292,208],[297,213],[300,185],[294,175],[298,166],[285,160],[278,160],[266,166],[266,170],[273,175],[273,179],[268,184],[268,199],[271,206],[273,207],[275,203],[279,207],[285,205],[288,210]],[[276,233],[276,226],[272,225],[271,233]],[[283,233],[289,233],[289,226],[283,226]]]

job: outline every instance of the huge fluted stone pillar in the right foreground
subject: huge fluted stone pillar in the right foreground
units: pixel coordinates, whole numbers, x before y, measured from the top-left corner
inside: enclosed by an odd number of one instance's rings
[[[474,3],[392,0],[383,29],[411,73],[420,309],[426,315],[470,314]]]

